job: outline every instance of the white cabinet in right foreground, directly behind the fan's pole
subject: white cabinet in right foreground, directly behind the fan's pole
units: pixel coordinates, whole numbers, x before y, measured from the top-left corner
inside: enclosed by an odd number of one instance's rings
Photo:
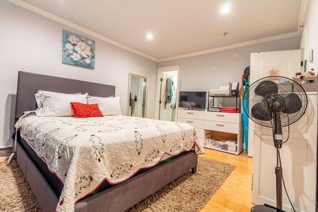
[[[317,177],[317,92],[307,92],[308,108],[290,125],[281,148],[283,177],[296,212],[315,212]],[[283,128],[283,141],[288,127]],[[255,124],[252,202],[276,206],[276,148],[272,129]],[[292,212],[283,189],[283,210]]]

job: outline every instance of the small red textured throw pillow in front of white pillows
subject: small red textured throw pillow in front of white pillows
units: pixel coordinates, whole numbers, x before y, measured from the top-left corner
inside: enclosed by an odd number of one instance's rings
[[[71,102],[75,118],[103,117],[97,104],[83,104]]]

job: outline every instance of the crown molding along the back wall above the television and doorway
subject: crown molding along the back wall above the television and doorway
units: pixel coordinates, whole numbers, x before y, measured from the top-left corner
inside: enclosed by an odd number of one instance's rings
[[[239,47],[260,44],[260,43],[265,43],[265,42],[269,42],[269,41],[276,41],[276,40],[281,40],[281,39],[286,39],[286,38],[298,37],[300,35],[301,35],[301,33],[299,31],[289,32],[289,33],[274,35],[274,36],[270,36],[270,37],[266,37],[266,38],[260,38],[260,39],[241,42],[241,43],[237,43],[237,44],[217,47],[217,48],[213,48],[213,49],[207,49],[204,51],[193,52],[193,53],[173,56],[173,57],[169,57],[169,58],[162,58],[162,59],[159,59],[158,62],[171,61],[171,60],[188,58],[188,57],[193,57],[193,56],[198,56],[198,55],[205,55],[205,54],[209,54],[209,53],[213,53],[213,52],[220,52],[220,51],[224,51],[224,50],[235,49],[235,48],[239,48]]]

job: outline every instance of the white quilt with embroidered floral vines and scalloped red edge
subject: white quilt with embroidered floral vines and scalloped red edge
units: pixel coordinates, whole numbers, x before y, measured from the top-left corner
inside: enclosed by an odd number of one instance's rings
[[[77,201],[107,180],[116,184],[163,155],[192,148],[204,152],[195,129],[184,123],[127,116],[19,119],[21,136],[54,172],[64,188],[57,212],[72,212]]]

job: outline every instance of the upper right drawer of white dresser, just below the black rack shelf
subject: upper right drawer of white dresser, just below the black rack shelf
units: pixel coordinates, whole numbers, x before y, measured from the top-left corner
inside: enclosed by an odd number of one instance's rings
[[[215,121],[215,122],[228,122],[239,124],[239,119],[241,119],[241,113],[221,113],[221,112],[211,112],[206,111],[204,114],[205,120]]]

